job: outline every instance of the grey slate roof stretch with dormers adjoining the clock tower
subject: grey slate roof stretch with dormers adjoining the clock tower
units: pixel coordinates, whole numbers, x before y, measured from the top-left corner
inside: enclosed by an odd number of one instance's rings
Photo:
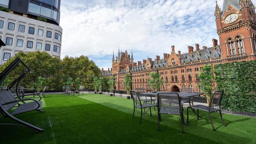
[[[217,53],[216,51],[213,50],[213,48],[214,47],[202,49],[202,50],[199,50],[199,52],[194,51],[189,55],[188,55],[188,53],[184,53],[184,54],[180,55],[180,57],[181,57],[180,63],[196,61],[196,60],[210,59],[210,58],[214,58],[214,57],[221,57],[221,53]],[[220,49],[220,45],[218,45],[216,50],[218,50],[218,49]],[[210,52],[209,56],[206,55],[207,52]],[[199,57],[198,57],[198,53],[200,55]],[[190,58],[190,56],[192,56],[192,58]]]

